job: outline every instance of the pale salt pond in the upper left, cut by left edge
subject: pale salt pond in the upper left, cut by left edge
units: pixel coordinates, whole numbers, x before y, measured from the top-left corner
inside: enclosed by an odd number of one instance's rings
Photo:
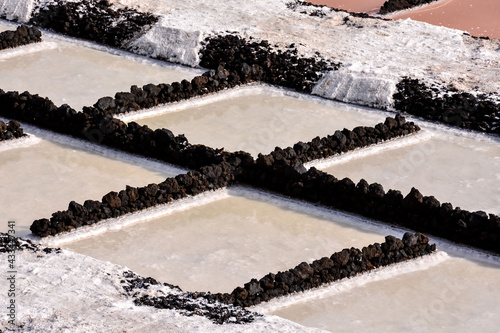
[[[101,97],[129,92],[132,85],[180,82],[200,73],[105,47],[99,48],[109,52],[92,49],[60,37],[44,35],[42,39],[54,44],[54,48],[8,59],[2,59],[0,53],[1,89],[29,91],[49,97],[57,106],[69,104],[81,110]]]

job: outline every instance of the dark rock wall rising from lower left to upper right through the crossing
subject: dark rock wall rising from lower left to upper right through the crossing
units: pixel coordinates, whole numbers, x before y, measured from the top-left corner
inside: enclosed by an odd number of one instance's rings
[[[275,160],[280,161],[283,156],[286,156],[289,165],[294,165],[297,170],[302,168],[303,172],[305,168],[302,166],[302,161],[311,160],[311,156],[318,158],[318,153],[315,153],[317,150],[325,151],[321,157],[327,157],[419,130],[418,126],[413,125],[413,123],[406,123],[404,118],[400,116],[387,118],[385,124],[380,123],[375,127],[363,127],[364,132],[362,135],[361,132],[358,132],[360,135],[356,137],[350,135],[349,133],[354,132],[347,129],[343,132],[337,131],[332,138],[336,138],[335,140],[339,140],[339,142],[334,144],[337,141],[332,139],[329,146],[316,145],[316,140],[313,140],[308,145],[308,147],[311,147],[310,149],[305,149],[304,145],[306,144],[296,144],[294,148],[287,148],[285,151],[277,148],[270,155],[259,155],[257,163],[263,163],[264,160],[270,166],[273,165]],[[381,129],[385,130],[381,131]],[[339,139],[337,133],[349,138],[349,142],[343,140],[344,137]],[[282,152],[286,152],[286,155],[281,154]],[[71,202],[66,211],[52,214],[50,220],[40,219],[34,221],[31,231],[40,237],[71,231],[101,220],[165,204],[188,195],[196,195],[207,190],[227,187],[237,181],[245,170],[255,168],[254,159],[245,152],[224,152],[221,158],[223,161],[217,165],[202,166],[197,172],[168,178],[160,184],[150,184],[141,188],[127,187],[119,192],[110,192],[100,202],[87,200],[83,205]],[[250,185],[253,184],[250,183]]]

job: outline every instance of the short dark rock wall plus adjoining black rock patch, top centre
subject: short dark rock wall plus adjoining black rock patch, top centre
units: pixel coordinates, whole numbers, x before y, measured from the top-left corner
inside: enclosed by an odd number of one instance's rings
[[[266,82],[298,91],[311,92],[328,69],[323,60],[300,58],[292,47],[274,52],[267,41],[249,42],[234,35],[208,38],[201,65],[212,70],[171,84],[132,86],[130,92],[102,97],[94,107],[110,114],[133,112],[215,93],[252,82]]]

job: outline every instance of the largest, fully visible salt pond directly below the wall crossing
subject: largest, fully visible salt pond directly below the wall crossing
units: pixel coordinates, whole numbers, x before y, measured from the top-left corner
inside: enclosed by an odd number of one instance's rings
[[[383,242],[383,229],[255,192],[86,238],[65,247],[186,291],[231,292],[343,248]],[[311,208],[312,207],[312,208]],[[400,235],[398,235],[400,236]]]

